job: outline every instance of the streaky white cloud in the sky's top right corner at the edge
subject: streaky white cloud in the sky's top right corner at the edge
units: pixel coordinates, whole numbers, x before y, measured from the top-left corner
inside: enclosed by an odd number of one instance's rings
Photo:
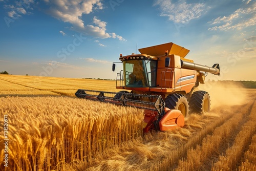
[[[228,16],[219,16],[211,22],[208,22],[211,25],[218,25],[210,27],[208,30],[242,30],[249,26],[255,26],[256,14],[252,15],[255,11],[256,2],[246,8],[239,8]]]

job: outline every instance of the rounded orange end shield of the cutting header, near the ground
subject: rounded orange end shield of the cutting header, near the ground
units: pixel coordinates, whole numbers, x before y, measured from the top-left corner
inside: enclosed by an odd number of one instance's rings
[[[168,110],[159,122],[160,131],[174,130],[184,125],[184,116],[179,110]]]

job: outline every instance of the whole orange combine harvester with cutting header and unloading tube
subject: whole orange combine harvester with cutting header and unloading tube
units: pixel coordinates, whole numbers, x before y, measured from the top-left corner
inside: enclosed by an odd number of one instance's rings
[[[182,127],[189,111],[199,114],[210,111],[209,94],[195,91],[195,88],[204,83],[207,73],[220,75],[218,63],[207,67],[185,59],[189,50],[173,42],[139,51],[141,54],[120,54],[121,62],[113,63],[113,71],[115,63],[123,64],[123,70],[117,73],[116,78],[116,88],[123,91],[113,93],[79,89],[75,95],[144,109],[144,133]]]

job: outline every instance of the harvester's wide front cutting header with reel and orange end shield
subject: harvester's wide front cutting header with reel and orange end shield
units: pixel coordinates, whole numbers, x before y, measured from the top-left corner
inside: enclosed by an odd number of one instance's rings
[[[181,112],[165,108],[165,102],[160,95],[142,95],[127,92],[114,93],[82,89],[77,90],[75,95],[78,98],[144,109],[144,133],[150,130],[173,130],[176,127],[183,127],[185,124],[184,116]]]

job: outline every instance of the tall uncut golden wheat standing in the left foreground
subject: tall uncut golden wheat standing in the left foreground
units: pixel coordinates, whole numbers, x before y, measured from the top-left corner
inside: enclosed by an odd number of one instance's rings
[[[96,152],[142,135],[143,112],[134,108],[68,97],[2,97],[0,104],[9,118],[11,170],[90,163]]]

